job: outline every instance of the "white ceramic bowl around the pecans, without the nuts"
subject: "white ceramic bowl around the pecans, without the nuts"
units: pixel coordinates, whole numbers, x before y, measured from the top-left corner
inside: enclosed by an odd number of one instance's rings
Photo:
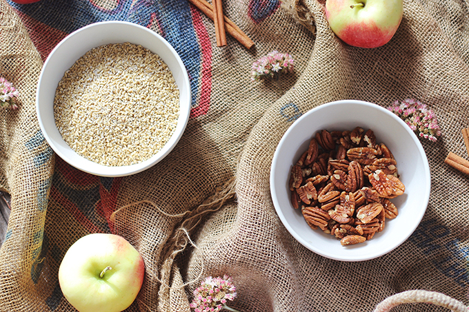
[[[301,208],[295,209],[290,203],[288,181],[292,165],[317,131],[352,130],[357,126],[372,129],[377,143],[382,142],[390,149],[406,191],[391,200],[399,215],[386,219],[383,231],[362,244],[343,247],[337,238],[306,224]],[[430,197],[430,169],[419,139],[398,116],[372,103],[337,101],[306,112],[288,128],[272,159],[270,191],[281,222],[303,246],[334,260],[369,260],[401,245],[419,225]]]

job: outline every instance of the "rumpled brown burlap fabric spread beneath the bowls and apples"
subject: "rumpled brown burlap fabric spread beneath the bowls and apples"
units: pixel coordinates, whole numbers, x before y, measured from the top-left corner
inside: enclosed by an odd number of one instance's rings
[[[468,157],[461,137],[469,123],[467,1],[405,1],[397,34],[373,50],[335,38],[315,0],[224,1],[226,15],[256,42],[252,51],[231,37],[217,48],[212,22],[185,1],[103,0],[87,12],[88,1],[51,2],[13,9],[0,0],[0,74],[21,92],[19,111],[0,112],[0,187],[12,196],[0,249],[1,311],[74,311],[57,271],[72,242],[90,232],[127,238],[146,262],[129,311],[190,311],[201,278],[223,274],[237,285],[230,306],[240,311],[466,309],[468,177],[443,159],[449,151]],[[161,24],[148,27],[169,38],[200,79],[192,77],[192,118],[176,149],[141,174],[109,179],[54,156],[39,132],[34,91],[50,43],[65,35],[48,27],[77,29],[115,6],[122,7],[114,19],[143,25],[141,17],[154,14],[177,28],[189,15],[194,42]],[[250,65],[271,50],[292,54],[295,74],[278,85],[251,83]],[[283,133],[312,107],[344,98],[383,106],[417,98],[443,131],[437,143],[422,141],[432,193],[421,225],[401,247],[366,262],[308,251],[270,200],[270,162]],[[400,294],[413,289],[433,292]]]

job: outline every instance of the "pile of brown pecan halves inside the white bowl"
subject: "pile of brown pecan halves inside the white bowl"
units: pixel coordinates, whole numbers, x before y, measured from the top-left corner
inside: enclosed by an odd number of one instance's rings
[[[291,202],[312,229],[318,227],[354,245],[383,231],[386,219],[397,217],[390,201],[406,187],[396,160],[371,129],[320,130],[292,167]]]

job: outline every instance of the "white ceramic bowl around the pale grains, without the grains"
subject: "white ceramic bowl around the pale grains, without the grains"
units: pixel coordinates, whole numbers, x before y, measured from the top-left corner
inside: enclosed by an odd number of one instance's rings
[[[92,48],[109,43],[134,43],[158,54],[168,65],[179,88],[179,119],[172,137],[154,156],[135,165],[108,167],[74,152],[63,141],[54,121],[54,95],[64,72]],[[97,176],[128,176],[152,167],[167,156],[181,138],[190,114],[191,91],[188,73],[172,46],[156,32],[135,23],[105,21],[93,23],[69,34],[50,52],[43,65],[36,94],[37,118],[50,147],[70,165]]]

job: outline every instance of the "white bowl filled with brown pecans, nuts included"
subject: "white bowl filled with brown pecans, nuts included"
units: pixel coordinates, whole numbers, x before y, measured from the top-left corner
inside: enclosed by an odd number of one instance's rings
[[[430,197],[430,169],[412,129],[373,103],[344,100],[306,112],[275,150],[272,202],[303,246],[363,261],[399,247]]]

